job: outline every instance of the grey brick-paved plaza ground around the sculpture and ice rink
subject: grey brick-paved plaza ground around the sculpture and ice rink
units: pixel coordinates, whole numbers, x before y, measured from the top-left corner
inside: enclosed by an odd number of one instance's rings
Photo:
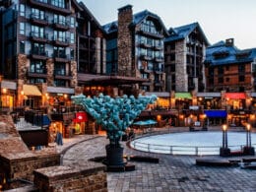
[[[217,128],[220,129],[220,128]],[[188,128],[173,128],[173,131]],[[78,143],[77,145],[75,145]],[[87,160],[105,156],[105,136],[78,136],[57,146],[63,153],[63,164],[83,165]],[[135,171],[107,172],[109,192],[135,191],[256,191],[256,170],[240,167],[206,167],[195,165],[194,156],[170,156],[138,152],[126,147],[124,154],[144,155],[160,159],[160,163],[131,162]],[[214,158],[220,158],[219,156]]]

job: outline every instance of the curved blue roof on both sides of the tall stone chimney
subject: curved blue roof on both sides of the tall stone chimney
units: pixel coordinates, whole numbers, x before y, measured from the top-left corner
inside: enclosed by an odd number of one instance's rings
[[[162,28],[164,30],[164,33],[168,34],[168,32],[167,32],[165,26],[163,25],[160,17],[157,14],[154,14],[154,13],[148,11],[148,10],[144,10],[142,12],[134,14],[133,15],[133,22],[130,25],[131,26],[140,25],[147,18],[153,18],[153,19],[158,20],[160,22],[160,25],[162,26]],[[118,30],[118,23],[117,23],[117,21],[111,22],[109,24],[104,25],[102,28],[103,28],[103,30],[106,33],[117,32],[117,30]]]

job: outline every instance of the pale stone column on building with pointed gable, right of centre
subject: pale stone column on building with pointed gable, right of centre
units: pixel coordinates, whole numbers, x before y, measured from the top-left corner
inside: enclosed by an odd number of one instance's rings
[[[185,41],[179,41],[175,44],[175,52],[176,52],[176,60],[175,60],[175,78],[176,78],[176,92],[187,92],[188,84],[187,84],[187,72],[186,72],[186,54]]]

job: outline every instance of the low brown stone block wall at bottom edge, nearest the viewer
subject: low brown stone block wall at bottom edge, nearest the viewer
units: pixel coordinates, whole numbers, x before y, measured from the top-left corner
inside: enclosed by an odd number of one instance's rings
[[[34,171],[33,183],[39,191],[107,191],[104,166],[89,162],[87,166],[52,166]]]

